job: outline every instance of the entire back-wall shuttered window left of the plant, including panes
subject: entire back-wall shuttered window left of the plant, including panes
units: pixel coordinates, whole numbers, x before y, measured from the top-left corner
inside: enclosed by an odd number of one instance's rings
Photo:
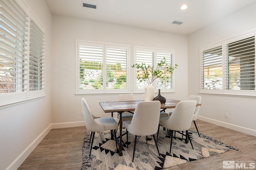
[[[76,43],[78,94],[128,92],[128,45]]]

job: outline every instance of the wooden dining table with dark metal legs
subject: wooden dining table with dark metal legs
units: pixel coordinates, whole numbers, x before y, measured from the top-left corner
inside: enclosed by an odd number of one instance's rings
[[[103,111],[105,113],[112,113],[112,117],[113,117],[113,113],[117,112],[118,114],[120,114],[119,116],[119,121],[120,121],[120,141],[117,140],[118,145],[119,145],[119,156],[122,156],[122,113],[124,113],[125,111],[128,112],[132,112],[136,109],[136,106],[138,104],[138,102],[141,102],[144,100],[133,100],[133,101],[114,101],[114,102],[100,102],[100,106],[102,107]],[[178,104],[178,102],[180,102],[180,100],[173,100],[173,99],[166,99],[166,102],[164,104],[161,104],[161,110],[165,111],[166,109],[171,109],[171,108],[175,108]],[[201,106],[201,104],[196,104],[196,106]]]

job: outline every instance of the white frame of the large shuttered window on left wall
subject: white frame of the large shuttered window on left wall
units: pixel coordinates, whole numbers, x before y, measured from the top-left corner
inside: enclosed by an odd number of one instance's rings
[[[9,105],[18,104],[20,102],[26,102],[26,101],[34,100],[36,98],[41,98],[41,97],[45,96],[45,92],[44,92],[44,66],[41,67],[42,68],[41,71],[43,73],[43,76],[41,77],[41,80],[43,82],[43,84],[41,84],[42,88],[40,90],[33,90],[33,91],[30,91],[30,89],[29,89],[30,88],[30,83],[29,83],[30,20],[33,20],[35,26],[38,27],[39,29],[41,29],[40,31],[43,34],[43,39],[44,39],[44,27],[42,26],[40,21],[36,18],[36,16],[34,16],[34,14],[32,14],[30,9],[27,7],[27,5],[22,0],[15,0],[15,1],[14,0],[10,0],[10,1],[6,0],[4,2],[6,2],[7,5],[3,4],[4,5],[3,8],[15,10],[15,11],[8,10],[8,11],[10,11],[9,16],[12,16],[12,15],[14,15],[13,13],[17,12],[18,15],[22,15],[23,17],[25,17],[27,19],[28,26],[26,26],[26,29],[28,31],[26,31],[27,41],[24,41],[24,44],[25,44],[24,50],[25,51],[24,51],[24,55],[23,55],[23,59],[24,59],[24,68],[23,68],[24,69],[24,73],[23,73],[24,82],[23,82],[23,87],[24,88],[20,92],[9,92],[9,93],[0,94],[0,107],[6,107],[6,106],[9,106]],[[22,16],[20,16],[20,17],[22,17]],[[14,24],[18,24],[18,23],[14,23]],[[42,49],[42,62],[44,63],[44,47]]]

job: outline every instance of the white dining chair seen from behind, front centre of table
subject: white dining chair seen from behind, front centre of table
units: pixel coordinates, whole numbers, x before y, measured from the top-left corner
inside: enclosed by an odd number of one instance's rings
[[[158,130],[158,123],[160,119],[160,106],[161,103],[158,100],[139,102],[134,111],[132,120],[124,121],[124,126],[126,127],[127,143],[128,133],[135,135],[132,162],[134,160],[137,136],[152,135],[156,144],[156,149],[160,156],[158,145],[154,135]]]

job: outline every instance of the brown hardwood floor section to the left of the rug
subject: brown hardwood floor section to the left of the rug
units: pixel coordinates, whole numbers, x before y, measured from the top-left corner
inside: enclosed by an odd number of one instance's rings
[[[18,170],[80,170],[86,127],[52,129]]]

